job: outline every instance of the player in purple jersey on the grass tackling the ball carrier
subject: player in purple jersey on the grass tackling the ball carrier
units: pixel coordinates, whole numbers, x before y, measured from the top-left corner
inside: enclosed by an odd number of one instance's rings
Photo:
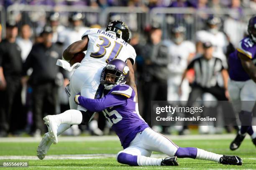
[[[125,62],[115,59],[103,69],[102,98],[89,99],[79,94],[74,101],[92,112],[102,112],[118,135],[122,151],[118,152],[120,163],[134,166],[175,166],[178,158],[211,160],[225,165],[242,165],[238,156],[225,156],[195,147],[179,147],[164,135],[152,130],[136,112],[135,91],[125,84],[129,68]],[[152,152],[162,152],[169,157],[150,157]]]

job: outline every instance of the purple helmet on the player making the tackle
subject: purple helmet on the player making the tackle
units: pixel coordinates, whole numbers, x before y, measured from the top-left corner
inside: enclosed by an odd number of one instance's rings
[[[107,76],[113,77],[115,81],[107,81]],[[127,64],[122,60],[115,59],[110,61],[102,70],[100,82],[104,85],[105,89],[110,90],[118,84],[125,84],[128,76],[129,67]]]

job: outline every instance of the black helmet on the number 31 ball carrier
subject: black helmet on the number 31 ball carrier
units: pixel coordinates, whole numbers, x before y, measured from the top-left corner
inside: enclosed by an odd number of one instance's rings
[[[106,28],[106,31],[112,31],[118,38],[122,38],[126,43],[130,43],[130,29],[128,26],[119,20],[111,21]]]

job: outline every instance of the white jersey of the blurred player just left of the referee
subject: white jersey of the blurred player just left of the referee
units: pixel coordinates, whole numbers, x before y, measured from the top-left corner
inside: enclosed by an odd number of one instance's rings
[[[174,74],[182,74],[187,69],[189,54],[195,53],[195,51],[195,44],[190,41],[183,41],[179,45],[172,43],[169,46],[169,58],[171,61],[168,64],[169,71]]]

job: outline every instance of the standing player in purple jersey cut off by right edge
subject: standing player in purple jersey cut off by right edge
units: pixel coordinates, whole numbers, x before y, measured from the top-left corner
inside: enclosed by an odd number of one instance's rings
[[[246,133],[256,145],[256,132],[251,126],[252,111],[256,101],[256,15],[249,20],[248,34],[228,58],[230,76],[228,91],[234,107],[239,112],[242,125],[230,144],[230,150],[238,149]]]

